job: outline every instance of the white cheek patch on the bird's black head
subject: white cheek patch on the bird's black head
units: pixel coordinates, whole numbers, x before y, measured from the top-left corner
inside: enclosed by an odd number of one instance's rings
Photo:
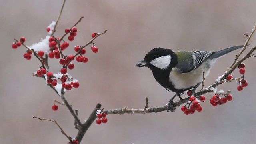
[[[171,63],[171,56],[161,56],[158,57],[150,62],[153,66],[160,68],[160,69],[166,69]]]

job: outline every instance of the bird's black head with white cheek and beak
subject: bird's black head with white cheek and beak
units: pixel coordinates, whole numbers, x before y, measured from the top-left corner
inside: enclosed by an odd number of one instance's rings
[[[150,69],[158,68],[164,70],[169,68],[170,64],[176,63],[175,61],[177,61],[177,56],[172,50],[166,48],[154,48],[150,50],[144,57],[144,60],[138,62],[136,66],[146,66]]]

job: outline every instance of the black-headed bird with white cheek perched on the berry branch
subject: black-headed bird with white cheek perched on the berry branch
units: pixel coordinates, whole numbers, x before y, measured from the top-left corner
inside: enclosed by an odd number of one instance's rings
[[[174,112],[174,98],[184,94],[186,90],[192,89],[194,94],[196,88],[208,76],[210,69],[216,60],[234,50],[244,47],[232,46],[219,51],[178,51],[174,52],[167,48],[153,48],[146,54],[143,60],[139,61],[136,66],[148,67],[153,73],[156,81],[166,90],[176,94],[169,100],[167,112]]]

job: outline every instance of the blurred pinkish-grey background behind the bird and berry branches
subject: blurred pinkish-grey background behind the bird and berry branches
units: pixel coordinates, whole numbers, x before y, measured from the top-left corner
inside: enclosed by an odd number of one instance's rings
[[[33,56],[23,58],[26,49],[11,48],[14,38],[24,36],[26,44],[45,38],[46,27],[55,21],[62,1],[0,1],[0,141],[4,144],[66,144],[59,128],[33,116],[56,120],[75,137],[74,119],[65,106],[52,110],[58,95],[43,79],[32,77],[40,62]],[[255,0],[67,0],[55,36],[62,36],[80,16],[78,34],[64,54],[74,54],[75,45],[91,40],[92,32],[108,32],[87,47],[88,63],[74,62],[68,72],[80,82],[79,88],[66,92],[68,102],[78,109],[79,118],[88,118],[97,103],[103,108],[144,108],[164,106],[174,95],[160,86],[148,68],[135,64],[155,47],[178,50],[221,50],[245,43],[256,22]],[[252,37],[252,48],[256,45]],[[65,39],[67,40],[67,38]],[[248,50],[247,50],[248,51]],[[222,75],[238,53],[232,52],[216,62],[205,85]],[[236,82],[218,89],[231,90],[233,100],[213,107],[206,94],[202,112],[185,115],[175,112],[156,114],[108,115],[108,123],[92,124],[82,144],[252,144],[256,143],[255,58],[246,60],[248,86],[236,90]],[[61,66],[50,59],[50,70]],[[239,77],[238,70],[233,73]]]

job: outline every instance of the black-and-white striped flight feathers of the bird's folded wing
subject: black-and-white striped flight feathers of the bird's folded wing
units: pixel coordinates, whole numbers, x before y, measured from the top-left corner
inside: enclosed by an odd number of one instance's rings
[[[195,60],[195,67],[197,68],[198,66],[200,66],[202,64],[202,62],[204,62],[204,60],[206,58],[208,58],[214,51],[193,51],[194,55],[196,56],[196,60]]]

